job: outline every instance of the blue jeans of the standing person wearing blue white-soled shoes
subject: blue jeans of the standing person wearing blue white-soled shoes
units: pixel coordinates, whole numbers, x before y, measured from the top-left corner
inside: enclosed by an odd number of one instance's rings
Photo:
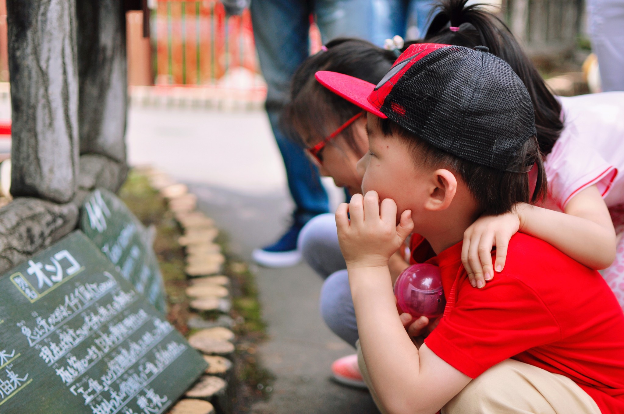
[[[310,14],[323,43],[335,37],[360,37],[383,44],[391,37],[378,29],[373,2],[380,0],[253,0],[251,21],[260,68],[268,87],[266,112],[286,168],[288,189],[295,201],[295,219],[305,222],[329,209],[318,170],[299,145],[280,128],[281,109],[290,99],[290,80],[310,54]],[[386,0],[381,0],[386,1]]]

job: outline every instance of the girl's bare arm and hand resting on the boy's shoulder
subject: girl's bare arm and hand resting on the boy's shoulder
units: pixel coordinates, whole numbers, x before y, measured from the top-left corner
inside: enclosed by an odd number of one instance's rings
[[[485,286],[494,269],[503,269],[509,239],[517,231],[552,244],[591,269],[605,269],[615,259],[615,229],[607,205],[593,185],[568,201],[564,213],[520,203],[512,213],[477,219],[464,233],[462,248],[462,262],[472,286]],[[494,266],[492,246],[496,246]]]

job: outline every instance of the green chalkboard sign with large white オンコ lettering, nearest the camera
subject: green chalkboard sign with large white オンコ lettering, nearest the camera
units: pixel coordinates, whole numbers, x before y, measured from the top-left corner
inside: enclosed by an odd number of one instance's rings
[[[81,231],[0,277],[0,413],[159,414],[206,365]]]

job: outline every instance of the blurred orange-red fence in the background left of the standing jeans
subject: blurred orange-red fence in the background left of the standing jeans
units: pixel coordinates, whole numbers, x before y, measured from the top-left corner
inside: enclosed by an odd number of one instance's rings
[[[240,85],[262,85],[256,76],[259,70],[248,10],[242,16],[226,17],[223,4],[215,0],[158,0],[152,14],[152,39],[155,84],[220,82],[234,87],[246,80]],[[237,76],[230,72],[235,68]]]

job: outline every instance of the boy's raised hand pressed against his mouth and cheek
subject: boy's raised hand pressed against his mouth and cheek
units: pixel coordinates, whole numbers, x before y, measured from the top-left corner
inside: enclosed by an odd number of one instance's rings
[[[369,191],[338,206],[336,227],[347,267],[377,267],[388,266],[388,259],[402,247],[414,222],[411,211],[406,210],[397,226],[394,200],[386,198],[380,206],[377,192]]]

